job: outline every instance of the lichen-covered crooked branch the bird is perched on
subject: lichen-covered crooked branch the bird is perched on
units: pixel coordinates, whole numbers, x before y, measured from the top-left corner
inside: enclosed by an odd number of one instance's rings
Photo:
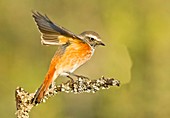
[[[113,78],[101,77],[97,80],[90,80],[87,77],[78,77],[76,81],[67,81],[59,85],[53,85],[46,92],[42,102],[45,102],[48,98],[56,95],[58,92],[66,93],[95,93],[100,89],[109,89],[110,86],[119,86],[120,82]],[[35,93],[28,93],[21,87],[17,87],[15,90],[16,99],[16,116],[17,118],[29,118],[29,112],[34,106],[38,104],[33,104],[31,101],[34,98]],[[41,103],[42,103],[41,102]]]

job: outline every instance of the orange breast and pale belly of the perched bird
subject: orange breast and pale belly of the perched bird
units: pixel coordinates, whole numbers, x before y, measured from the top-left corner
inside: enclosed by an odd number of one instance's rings
[[[56,54],[56,71],[58,71],[58,74],[73,72],[79,66],[88,61],[92,54],[93,51],[88,44],[83,42],[71,43],[66,47],[64,53],[60,57]]]

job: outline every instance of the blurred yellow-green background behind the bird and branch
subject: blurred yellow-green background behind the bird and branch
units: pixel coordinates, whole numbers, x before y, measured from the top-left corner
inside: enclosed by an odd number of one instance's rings
[[[96,94],[60,93],[33,108],[31,118],[169,118],[169,0],[1,0],[1,118],[15,117],[15,88],[34,92],[57,49],[40,44],[31,10],[76,34],[98,32],[106,47],[75,73],[122,82]]]

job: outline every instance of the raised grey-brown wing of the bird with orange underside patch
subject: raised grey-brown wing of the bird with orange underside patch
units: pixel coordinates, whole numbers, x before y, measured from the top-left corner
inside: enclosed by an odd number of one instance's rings
[[[63,45],[72,40],[82,40],[69,30],[55,25],[46,15],[33,12],[33,18],[41,32],[41,42],[43,45]],[[82,40],[83,41],[83,40]]]

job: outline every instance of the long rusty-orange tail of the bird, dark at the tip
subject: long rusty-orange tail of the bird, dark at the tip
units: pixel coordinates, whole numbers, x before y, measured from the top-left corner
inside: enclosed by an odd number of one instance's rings
[[[54,71],[52,73],[49,73],[49,72],[47,73],[43,84],[40,86],[40,88],[37,90],[37,92],[34,95],[34,98],[32,100],[33,103],[37,104],[37,103],[41,102],[41,100],[43,99],[45,93],[47,92],[50,85],[54,81],[53,75],[54,75]]]

